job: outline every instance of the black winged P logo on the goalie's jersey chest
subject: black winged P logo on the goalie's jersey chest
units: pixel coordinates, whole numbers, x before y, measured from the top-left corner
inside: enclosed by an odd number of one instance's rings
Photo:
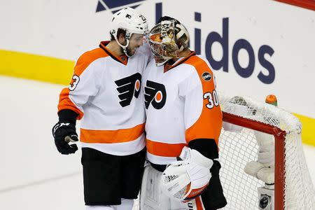
[[[160,83],[155,83],[151,80],[146,81],[144,87],[144,104],[146,109],[152,104],[155,109],[162,109],[167,98],[165,86]]]

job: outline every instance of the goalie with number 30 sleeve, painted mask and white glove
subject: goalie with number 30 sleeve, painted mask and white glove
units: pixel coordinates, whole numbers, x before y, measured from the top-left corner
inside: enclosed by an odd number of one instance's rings
[[[155,61],[144,72],[148,165],[140,209],[221,209],[218,161],[222,113],[207,59],[188,48],[189,34],[162,17],[148,42]]]

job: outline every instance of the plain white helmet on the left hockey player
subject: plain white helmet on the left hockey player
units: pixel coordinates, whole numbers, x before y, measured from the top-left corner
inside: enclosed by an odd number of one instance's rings
[[[119,43],[117,38],[118,29],[124,29],[126,31],[126,45]],[[144,34],[144,36],[146,36],[148,34],[148,22],[146,18],[144,18],[144,15],[141,15],[137,10],[126,7],[113,14],[110,32],[116,39],[118,45],[123,48],[125,55],[130,57],[130,55],[127,54],[126,48],[130,43],[132,34]]]

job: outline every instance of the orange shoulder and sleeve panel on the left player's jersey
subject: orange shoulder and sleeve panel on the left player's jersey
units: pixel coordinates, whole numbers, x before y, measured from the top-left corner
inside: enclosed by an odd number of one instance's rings
[[[89,66],[94,60],[99,59],[101,57],[109,56],[104,50],[101,48],[96,48],[94,50],[85,52],[83,55],[80,56],[78,62],[76,62],[76,66],[74,66],[73,75],[80,76],[83,71]],[[73,79],[71,79],[71,83],[73,83]],[[80,120],[83,118],[83,112],[77,108],[71,99],[69,99],[70,90],[68,87],[65,87],[59,95],[59,104],[58,104],[58,111],[62,109],[71,109],[78,113],[77,119]]]

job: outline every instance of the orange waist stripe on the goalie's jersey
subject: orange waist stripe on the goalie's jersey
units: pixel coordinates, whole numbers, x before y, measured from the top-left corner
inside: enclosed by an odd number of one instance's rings
[[[146,139],[147,151],[152,155],[162,157],[179,157],[184,146],[187,146],[187,144],[166,144]]]

